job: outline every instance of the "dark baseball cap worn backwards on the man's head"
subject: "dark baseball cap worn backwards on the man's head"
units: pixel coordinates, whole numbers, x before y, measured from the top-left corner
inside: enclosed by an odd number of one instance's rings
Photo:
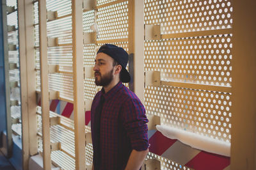
[[[107,54],[111,58],[115,59],[115,61],[122,66],[122,70],[120,72],[120,81],[131,81],[131,76],[129,72],[126,70],[126,66],[128,63],[128,53],[122,47],[117,47],[116,45],[106,43],[100,47],[97,54],[99,52]]]

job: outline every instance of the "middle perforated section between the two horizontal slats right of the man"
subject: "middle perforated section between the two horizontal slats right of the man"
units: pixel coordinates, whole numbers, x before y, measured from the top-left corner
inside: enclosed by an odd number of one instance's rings
[[[145,70],[163,80],[231,86],[232,35],[145,42]]]

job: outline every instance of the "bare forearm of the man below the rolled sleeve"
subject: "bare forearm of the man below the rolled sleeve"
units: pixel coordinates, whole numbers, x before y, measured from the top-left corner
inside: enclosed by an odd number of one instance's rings
[[[127,165],[125,167],[125,170],[140,169],[147,154],[148,154],[148,149],[145,151],[132,150],[129,160],[127,162]]]

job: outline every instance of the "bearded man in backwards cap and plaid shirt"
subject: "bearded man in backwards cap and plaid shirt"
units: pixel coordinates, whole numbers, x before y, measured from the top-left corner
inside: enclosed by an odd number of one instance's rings
[[[127,63],[127,52],[116,45],[97,52],[95,84],[103,87],[91,110],[94,169],[140,169],[148,153],[145,108],[122,84],[131,80]]]

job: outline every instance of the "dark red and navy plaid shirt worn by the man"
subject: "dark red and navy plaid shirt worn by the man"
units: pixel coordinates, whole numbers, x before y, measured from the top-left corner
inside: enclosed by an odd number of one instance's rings
[[[100,134],[95,134],[95,110],[100,97],[105,101],[100,118]],[[148,148],[147,117],[140,99],[122,82],[104,93],[99,91],[92,103],[92,139],[100,138],[100,169],[124,169],[132,150]],[[95,143],[95,141],[93,141]],[[95,148],[93,148],[95,153]]]

